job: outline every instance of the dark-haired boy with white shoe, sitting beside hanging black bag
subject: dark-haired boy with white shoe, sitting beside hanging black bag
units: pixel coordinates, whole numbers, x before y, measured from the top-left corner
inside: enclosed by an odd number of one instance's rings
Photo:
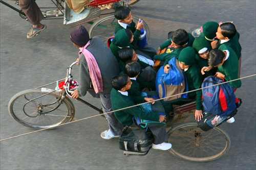
[[[133,96],[130,95],[127,90],[131,88],[132,82],[127,75],[117,75],[112,79],[113,89],[111,91],[112,107],[119,122],[125,126],[133,125],[133,117],[139,117],[146,120],[153,120],[164,122],[166,117],[159,112],[144,112],[136,105]],[[142,101],[141,103],[143,103]],[[154,102],[153,102],[154,104]],[[127,108],[129,107],[129,108]],[[126,109],[123,109],[126,108]],[[122,109],[122,110],[119,110]],[[172,147],[172,144],[166,143],[168,140],[166,130],[164,126],[161,127],[149,127],[154,136],[154,142],[152,144],[153,149],[168,150]]]

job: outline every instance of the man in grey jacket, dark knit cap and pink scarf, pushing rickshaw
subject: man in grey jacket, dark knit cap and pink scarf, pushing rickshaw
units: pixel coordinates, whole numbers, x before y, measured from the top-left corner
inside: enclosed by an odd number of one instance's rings
[[[110,101],[110,92],[112,90],[111,80],[120,72],[116,58],[108,46],[106,46],[105,42],[99,37],[90,39],[88,31],[83,26],[74,29],[70,33],[70,40],[76,47],[80,48],[80,52],[88,51],[88,53],[91,53],[91,55],[80,54],[78,60],[79,89],[75,89],[71,93],[72,99],[86,95],[87,91],[93,85],[95,93],[98,93],[100,96],[103,112],[112,111]],[[100,136],[103,139],[119,137],[123,125],[118,122],[114,113],[105,114],[105,117],[108,120],[109,129],[102,132]]]

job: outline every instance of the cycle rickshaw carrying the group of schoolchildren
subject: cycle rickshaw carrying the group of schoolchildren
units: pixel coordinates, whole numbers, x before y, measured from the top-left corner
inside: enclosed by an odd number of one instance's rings
[[[67,69],[65,79],[52,82],[35,89],[15,94],[8,105],[8,111],[18,123],[34,129],[54,129],[58,125],[71,122],[75,116],[75,107],[70,100],[71,92],[79,86],[73,80],[71,70]],[[56,84],[55,89],[45,88]],[[76,100],[103,113],[90,103]],[[168,141],[173,144],[169,150],[173,155],[189,161],[211,161],[220,158],[230,148],[230,137],[226,131],[216,127],[202,131],[194,119],[195,101],[176,106],[168,115]]]

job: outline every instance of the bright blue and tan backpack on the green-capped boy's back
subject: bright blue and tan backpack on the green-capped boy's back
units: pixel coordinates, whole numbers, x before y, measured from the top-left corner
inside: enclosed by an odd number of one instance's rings
[[[185,72],[180,68],[178,60],[173,57],[170,59],[168,64],[170,65],[170,69],[167,74],[164,72],[163,66],[161,66],[157,71],[156,91],[159,95],[159,98],[165,98],[167,96],[172,96],[188,91]],[[187,93],[172,96],[164,99],[163,101],[172,101],[180,98],[186,99]]]

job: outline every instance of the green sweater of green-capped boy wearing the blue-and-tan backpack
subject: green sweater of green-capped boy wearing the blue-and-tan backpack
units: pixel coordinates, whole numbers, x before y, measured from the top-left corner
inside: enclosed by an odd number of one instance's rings
[[[197,65],[197,63],[191,65],[188,67],[188,69],[185,71],[186,78],[187,78],[187,84],[188,84],[188,90],[196,90],[201,88],[201,84],[203,82],[201,69]],[[196,96],[196,109],[202,110],[202,90],[197,90],[188,93],[188,97],[191,98],[193,96]]]

